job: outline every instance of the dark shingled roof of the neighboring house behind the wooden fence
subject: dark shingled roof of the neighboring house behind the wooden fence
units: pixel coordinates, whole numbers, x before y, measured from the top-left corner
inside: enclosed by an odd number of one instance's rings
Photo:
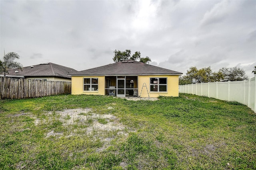
[[[18,72],[17,72],[18,71]],[[60,77],[71,79],[71,76],[68,74],[72,74],[77,72],[73,68],[61,66],[54,63],[44,63],[33,66],[23,67],[22,71],[19,69],[10,69],[8,70],[8,75],[15,76],[24,76],[26,77]]]

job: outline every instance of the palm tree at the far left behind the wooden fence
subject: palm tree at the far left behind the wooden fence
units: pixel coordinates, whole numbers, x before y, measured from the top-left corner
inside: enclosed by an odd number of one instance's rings
[[[18,68],[22,70],[22,64],[14,61],[15,59],[20,59],[20,56],[17,53],[10,52],[4,55],[4,60],[0,60],[0,73],[4,73],[5,76],[6,73],[8,73],[8,69]]]

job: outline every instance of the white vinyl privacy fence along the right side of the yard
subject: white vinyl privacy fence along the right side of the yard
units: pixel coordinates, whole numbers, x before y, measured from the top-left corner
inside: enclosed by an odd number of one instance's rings
[[[247,105],[256,113],[255,77],[236,82],[212,82],[179,86],[180,93],[207,96],[220,100],[236,101]]]

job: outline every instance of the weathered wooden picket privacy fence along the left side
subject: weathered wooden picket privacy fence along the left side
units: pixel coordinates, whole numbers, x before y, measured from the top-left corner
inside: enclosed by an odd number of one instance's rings
[[[37,98],[56,94],[71,94],[71,82],[0,77],[1,99]]]

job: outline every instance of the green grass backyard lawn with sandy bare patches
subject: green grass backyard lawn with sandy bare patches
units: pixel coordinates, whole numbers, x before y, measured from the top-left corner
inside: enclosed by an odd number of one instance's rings
[[[256,114],[190,94],[0,100],[0,169],[256,169]]]

